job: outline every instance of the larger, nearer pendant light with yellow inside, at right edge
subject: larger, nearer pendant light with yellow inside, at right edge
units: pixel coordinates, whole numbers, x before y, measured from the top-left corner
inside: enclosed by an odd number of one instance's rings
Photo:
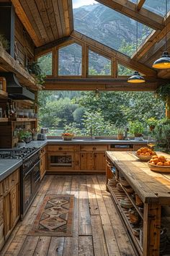
[[[162,56],[160,59],[157,59],[152,67],[156,69],[170,69],[170,56],[167,51],[167,32],[166,32],[166,26],[167,26],[167,12],[168,12],[168,7],[167,7],[167,0],[166,0],[166,24],[165,24],[165,51],[163,52]]]

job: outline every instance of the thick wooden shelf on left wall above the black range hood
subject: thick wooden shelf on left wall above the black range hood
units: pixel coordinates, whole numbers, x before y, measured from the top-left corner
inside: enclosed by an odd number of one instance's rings
[[[34,77],[32,77],[19,63],[10,56],[3,47],[0,46],[0,67],[6,70],[6,72],[14,72],[17,75],[17,79],[27,88],[31,90],[40,90],[40,85]]]

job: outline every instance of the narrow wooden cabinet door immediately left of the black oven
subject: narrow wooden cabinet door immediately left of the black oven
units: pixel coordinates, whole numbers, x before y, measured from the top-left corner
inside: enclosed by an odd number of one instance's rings
[[[10,229],[12,229],[19,218],[19,184],[16,184],[10,191],[11,220]]]

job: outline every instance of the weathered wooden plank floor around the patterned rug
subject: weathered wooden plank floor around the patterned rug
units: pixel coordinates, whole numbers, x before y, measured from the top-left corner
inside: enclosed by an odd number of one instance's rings
[[[30,210],[19,221],[0,255],[136,255],[102,175],[48,175]],[[27,236],[45,195],[74,195],[73,236]]]

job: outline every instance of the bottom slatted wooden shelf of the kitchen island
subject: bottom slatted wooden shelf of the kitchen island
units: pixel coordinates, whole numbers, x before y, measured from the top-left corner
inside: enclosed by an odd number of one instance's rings
[[[131,239],[133,239],[136,249],[138,249],[139,255],[143,255],[143,248],[140,245],[140,241],[133,234],[133,227],[130,224],[128,209],[122,208],[120,206],[120,200],[126,196],[126,193],[124,191],[119,192],[116,187],[110,187],[108,184],[107,184],[107,189],[112,195],[115,205],[117,206],[117,210],[119,211],[120,216],[122,217],[122,220],[124,221],[125,226],[128,229],[128,232],[130,233]]]

